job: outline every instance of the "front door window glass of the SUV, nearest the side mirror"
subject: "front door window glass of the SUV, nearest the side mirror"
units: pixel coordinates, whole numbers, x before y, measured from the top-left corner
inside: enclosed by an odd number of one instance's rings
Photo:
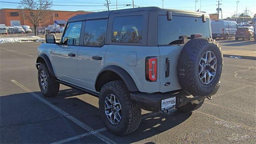
[[[79,45],[81,28],[82,22],[68,23],[64,36],[62,38],[62,44]]]

